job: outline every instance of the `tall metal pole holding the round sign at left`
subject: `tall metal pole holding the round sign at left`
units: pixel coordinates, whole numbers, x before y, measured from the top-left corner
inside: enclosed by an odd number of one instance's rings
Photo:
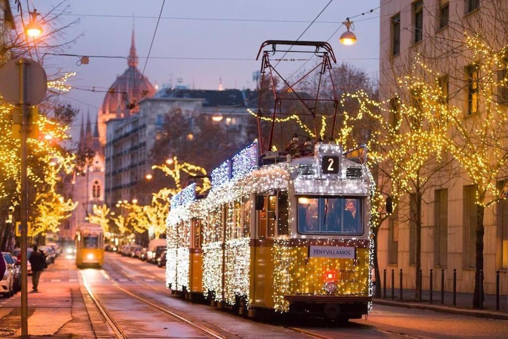
[[[20,222],[21,222],[21,336],[28,336],[28,271],[27,254],[28,247],[28,191],[26,180],[26,157],[27,157],[27,133],[28,133],[28,104],[26,102],[26,72],[25,60],[19,60],[19,108],[21,114],[20,126],[20,161],[21,161],[21,199],[20,199]]]

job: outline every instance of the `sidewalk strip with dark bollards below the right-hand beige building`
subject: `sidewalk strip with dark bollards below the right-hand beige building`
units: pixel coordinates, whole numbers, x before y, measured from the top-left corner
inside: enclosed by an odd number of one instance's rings
[[[446,312],[457,315],[474,316],[492,319],[508,320],[508,306],[506,295],[499,296],[499,311],[496,311],[496,296],[485,294],[483,310],[472,308],[472,293],[457,293],[456,306],[453,306],[453,293],[444,292],[444,303],[441,304],[441,291],[432,292],[432,303],[429,302],[429,291],[422,291],[422,301],[415,300],[415,290],[402,290],[402,300],[400,300],[400,290],[395,289],[394,299],[392,299],[392,289],[387,288],[386,298],[374,298],[374,304],[408,307],[410,309],[432,310],[436,312]]]

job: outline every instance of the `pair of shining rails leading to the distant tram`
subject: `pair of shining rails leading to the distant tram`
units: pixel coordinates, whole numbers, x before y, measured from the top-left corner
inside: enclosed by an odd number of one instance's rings
[[[90,298],[92,299],[94,305],[97,307],[97,309],[99,310],[99,312],[101,313],[101,315],[105,319],[105,321],[108,324],[108,326],[112,329],[112,331],[115,334],[116,338],[118,338],[118,339],[128,339],[130,336],[128,334],[126,334],[125,331],[118,324],[118,322],[115,321],[114,317],[108,311],[107,307],[101,301],[101,299],[99,298],[97,293],[94,293],[94,291],[92,290],[92,287],[90,286],[90,284],[86,280],[86,276],[85,276],[84,272],[83,271],[80,271],[80,272],[81,272],[81,280],[83,282],[83,286],[85,287],[88,295],[90,296]],[[163,313],[173,317],[174,319],[178,320],[179,322],[184,323],[184,324],[186,324],[186,325],[188,325],[188,326],[198,330],[199,332],[205,334],[207,337],[215,338],[215,339],[224,339],[224,338],[226,338],[225,336],[220,335],[219,333],[213,331],[210,328],[207,328],[205,326],[201,326],[201,325],[195,324],[194,322],[192,322],[189,319],[186,319],[185,317],[182,317],[182,316],[180,316],[180,315],[178,315],[178,314],[176,314],[174,312],[171,312],[171,311],[165,309],[164,307],[162,307],[160,305],[157,305],[156,303],[154,303],[154,302],[152,302],[152,301],[150,301],[150,300],[148,300],[146,298],[143,298],[143,297],[141,297],[139,295],[136,295],[136,294],[130,292],[129,290],[126,290],[125,288],[123,288],[120,285],[118,285],[113,279],[111,279],[111,277],[108,275],[108,273],[106,273],[103,269],[101,269],[101,273],[103,274],[104,278],[106,278],[116,289],[120,290],[121,292],[123,292],[125,294],[128,294],[130,297],[136,298],[137,300],[139,300],[139,301],[149,305],[150,307],[152,307],[152,308],[154,308],[154,309],[156,309],[156,310],[158,310],[160,312],[163,312]]]

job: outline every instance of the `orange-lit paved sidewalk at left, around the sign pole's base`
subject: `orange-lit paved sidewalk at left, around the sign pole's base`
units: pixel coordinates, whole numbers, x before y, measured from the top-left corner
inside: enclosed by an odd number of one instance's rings
[[[40,292],[28,293],[28,333],[31,336],[94,338],[80,292],[74,260],[60,256],[41,274]],[[31,291],[31,276],[28,276]],[[0,337],[21,334],[21,293],[0,300]]]

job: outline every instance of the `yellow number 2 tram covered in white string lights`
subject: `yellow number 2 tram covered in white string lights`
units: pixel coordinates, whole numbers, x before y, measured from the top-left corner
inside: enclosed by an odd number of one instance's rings
[[[167,286],[248,316],[367,314],[373,189],[367,167],[325,143],[307,157],[273,153],[262,166],[258,159],[255,142],[212,171],[207,197],[196,199],[195,184],[173,197]]]

